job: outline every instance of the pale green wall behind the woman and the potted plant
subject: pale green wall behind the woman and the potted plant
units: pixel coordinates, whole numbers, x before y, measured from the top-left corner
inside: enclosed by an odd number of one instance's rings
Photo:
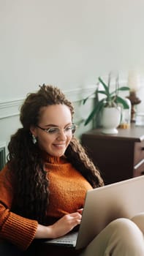
[[[20,125],[18,115],[3,113],[39,84],[82,98],[79,89],[88,94],[97,76],[111,69],[125,83],[129,69],[143,76],[143,10],[143,0],[0,0],[0,142]],[[143,111],[144,86],[138,94]],[[80,122],[91,101],[83,108],[78,99],[74,104]],[[77,137],[89,128],[80,124]]]

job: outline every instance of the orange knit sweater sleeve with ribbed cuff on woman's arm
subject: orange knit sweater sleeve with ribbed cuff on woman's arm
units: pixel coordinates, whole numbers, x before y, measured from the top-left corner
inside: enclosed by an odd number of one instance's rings
[[[33,241],[38,222],[12,213],[13,188],[7,166],[0,171],[0,238],[26,250]]]

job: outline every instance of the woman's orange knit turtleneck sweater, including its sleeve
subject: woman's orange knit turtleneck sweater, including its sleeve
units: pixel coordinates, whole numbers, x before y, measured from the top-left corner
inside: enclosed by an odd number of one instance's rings
[[[47,155],[45,170],[48,170],[50,181],[48,217],[62,217],[83,207],[86,191],[92,187],[66,158]],[[34,240],[38,223],[10,211],[15,200],[14,189],[6,165],[0,171],[0,238],[25,250]]]

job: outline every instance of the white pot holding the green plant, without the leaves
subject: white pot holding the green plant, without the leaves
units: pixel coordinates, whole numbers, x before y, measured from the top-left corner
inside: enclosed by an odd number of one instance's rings
[[[101,124],[102,133],[116,134],[118,133],[118,125],[121,121],[121,107],[104,108],[102,111]]]

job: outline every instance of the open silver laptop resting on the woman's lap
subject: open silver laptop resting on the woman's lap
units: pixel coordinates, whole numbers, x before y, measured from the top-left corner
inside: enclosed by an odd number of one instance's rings
[[[144,176],[88,190],[79,230],[45,243],[81,249],[114,219],[131,219],[135,214],[144,212],[142,195]]]

